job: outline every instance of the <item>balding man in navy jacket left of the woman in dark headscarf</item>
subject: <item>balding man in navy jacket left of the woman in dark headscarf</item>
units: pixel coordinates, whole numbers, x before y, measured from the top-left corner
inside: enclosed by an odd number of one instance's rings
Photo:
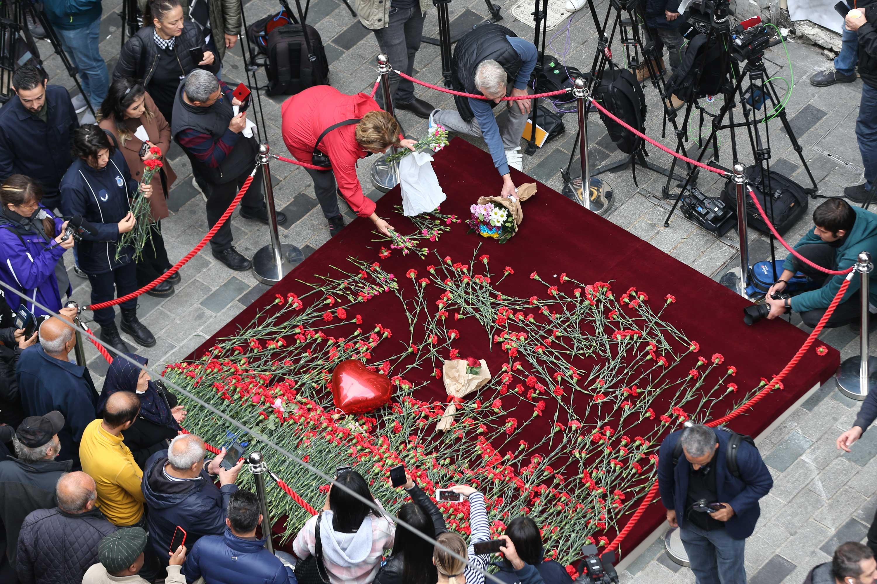
[[[18,357],[16,377],[25,416],[44,416],[57,410],[64,417],[58,431],[61,440],[59,460],[73,460],[79,468],[79,441],[96,418],[97,391],[87,367],[68,360],[76,344],[70,318],[76,309],[61,309],[61,317],[47,319],[39,326],[39,343],[27,347]]]

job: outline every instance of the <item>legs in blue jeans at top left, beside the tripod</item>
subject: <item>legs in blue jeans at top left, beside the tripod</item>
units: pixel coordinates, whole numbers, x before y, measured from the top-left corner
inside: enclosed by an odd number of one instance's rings
[[[79,69],[82,93],[97,110],[110,88],[110,75],[100,51],[101,0],[45,0],[44,4],[61,47]],[[82,123],[93,124],[94,120],[85,119]]]

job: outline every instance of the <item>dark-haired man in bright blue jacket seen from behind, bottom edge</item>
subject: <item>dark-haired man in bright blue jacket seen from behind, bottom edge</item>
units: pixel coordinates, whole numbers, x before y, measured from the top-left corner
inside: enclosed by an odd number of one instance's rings
[[[292,568],[265,549],[265,538],[256,538],[262,521],[259,499],[250,491],[235,491],[229,497],[223,535],[204,536],[192,546],[182,565],[191,582],[203,577],[205,584],[296,584]]]

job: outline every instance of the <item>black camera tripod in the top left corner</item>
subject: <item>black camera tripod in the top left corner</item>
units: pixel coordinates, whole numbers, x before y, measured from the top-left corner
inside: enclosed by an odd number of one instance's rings
[[[58,33],[55,32],[52,24],[46,18],[46,12],[42,10],[41,6],[38,9],[32,0],[16,0],[0,5],[0,103],[8,102],[14,93],[12,74],[15,73],[16,68],[33,61],[39,70],[44,75],[46,74],[37,43],[33,40],[31,29],[27,27],[26,11],[30,11],[37,22],[42,25],[43,30],[46,31],[46,39],[52,44],[55,54],[61,59],[68,75],[73,79],[76,87],[79,88],[79,93],[85,99],[91,115],[94,116],[95,109],[89,101],[89,96],[85,95],[85,91],[82,90],[82,83],[76,77],[78,70],[70,61],[67,53],[64,53],[61,40],[58,39]]]

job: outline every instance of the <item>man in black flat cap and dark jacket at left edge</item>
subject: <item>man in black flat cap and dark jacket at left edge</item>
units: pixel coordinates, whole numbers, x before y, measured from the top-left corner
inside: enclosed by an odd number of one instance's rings
[[[55,460],[61,450],[58,432],[63,427],[59,411],[25,418],[13,438],[18,458],[0,461],[0,523],[6,528],[6,558],[12,566],[25,517],[36,509],[55,506],[55,485],[73,466],[70,460]]]

